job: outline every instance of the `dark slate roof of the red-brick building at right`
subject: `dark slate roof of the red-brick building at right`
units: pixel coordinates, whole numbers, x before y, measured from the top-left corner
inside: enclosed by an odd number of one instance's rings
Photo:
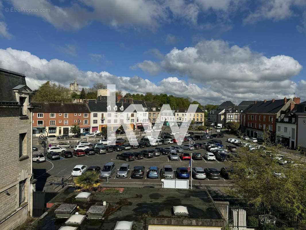
[[[288,98],[289,99],[289,98]],[[287,99],[287,102],[288,102]],[[244,109],[244,113],[278,113],[284,106],[284,99],[257,102],[254,105],[249,105],[248,108]]]

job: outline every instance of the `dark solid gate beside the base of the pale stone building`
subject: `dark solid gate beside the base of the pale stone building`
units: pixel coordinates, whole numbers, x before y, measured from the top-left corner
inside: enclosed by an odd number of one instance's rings
[[[57,194],[54,191],[33,192],[33,217],[43,215],[47,211],[47,202]]]

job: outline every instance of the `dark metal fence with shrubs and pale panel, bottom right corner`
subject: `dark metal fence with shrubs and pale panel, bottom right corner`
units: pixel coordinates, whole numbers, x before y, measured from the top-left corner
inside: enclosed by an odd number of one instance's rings
[[[273,207],[242,207],[230,206],[229,220],[235,229],[255,228],[263,229],[270,225],[276,228],[289,227],[306,230],[306,223],[300,216],[296,216],[288,210]]]

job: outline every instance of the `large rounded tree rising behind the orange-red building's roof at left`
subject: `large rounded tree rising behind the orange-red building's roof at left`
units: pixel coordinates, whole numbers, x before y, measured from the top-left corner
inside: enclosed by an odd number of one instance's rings
[[[47,81],[39,86],[32,102],[71,102],[71,95],[68,88]]]

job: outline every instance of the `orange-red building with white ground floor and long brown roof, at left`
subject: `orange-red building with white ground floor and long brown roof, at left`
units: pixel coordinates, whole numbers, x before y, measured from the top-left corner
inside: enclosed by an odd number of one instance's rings
[[[49,135],[73,135],[74,124],[81,132],[90,132],[91,114],[86,103],[34,102],[33,134],[39,136],[44,129]]]

